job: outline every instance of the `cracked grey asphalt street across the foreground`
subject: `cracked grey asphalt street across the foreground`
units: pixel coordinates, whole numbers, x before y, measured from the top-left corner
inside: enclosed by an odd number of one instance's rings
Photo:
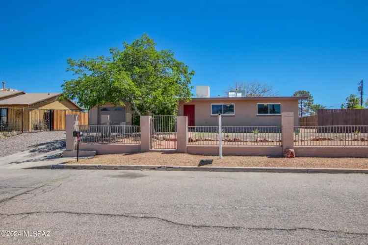
[[[0,244],[367,244],[368,175],[1,169],[0,230]]]

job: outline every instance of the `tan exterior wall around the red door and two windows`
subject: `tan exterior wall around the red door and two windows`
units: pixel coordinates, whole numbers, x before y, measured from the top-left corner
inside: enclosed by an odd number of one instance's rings
[[[211,104],[235,105],[234,116],[223,116],[222,125],[225,126],[281,126],[281,115],[257,115],[257,103],[281,103],[281,112],[293,112],[298,115],[297,99],[267,99],[262,100],[232,100],[232,99],[192,99],[190,102],[179,102],[178,116],[184,116],[184,104],[195,105],[195,126],[216,126],[218,117],[211,116]],[[294,117],[294,125],[299,125],[298,117]]]

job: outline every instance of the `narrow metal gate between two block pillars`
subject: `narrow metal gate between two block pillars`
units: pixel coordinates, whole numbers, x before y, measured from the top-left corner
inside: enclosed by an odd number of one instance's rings
[[[176,149],[176,116],[151,118],[151,149]]]

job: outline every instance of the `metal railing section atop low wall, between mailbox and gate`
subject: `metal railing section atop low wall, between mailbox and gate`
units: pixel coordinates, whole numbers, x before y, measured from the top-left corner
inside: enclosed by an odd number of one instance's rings
[[[79,125],[81,143],[140,144],[140,126],[130,125]]]

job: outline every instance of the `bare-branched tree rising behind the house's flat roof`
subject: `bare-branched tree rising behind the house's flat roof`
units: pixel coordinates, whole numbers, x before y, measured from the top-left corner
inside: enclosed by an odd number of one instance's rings
[[[238,93],[242,92],[242,97],[267,97],[274,96],[272,86],[267,84],[259,83],[259,82],[240,82],[235,83],[225,91],[226,96],[229,91],[237,91]]]

